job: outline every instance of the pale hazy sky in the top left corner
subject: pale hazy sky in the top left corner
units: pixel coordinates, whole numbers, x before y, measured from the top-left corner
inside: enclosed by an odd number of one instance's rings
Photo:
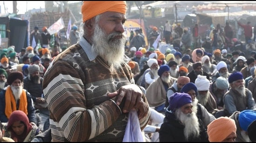
[[[7,8],[6,12],[13,13],[13,1],[0,1],[1,13],[5,13],[5,7]],[[27,10],[45,8],[44,1],[17,1],[18,14],[24,14]]]

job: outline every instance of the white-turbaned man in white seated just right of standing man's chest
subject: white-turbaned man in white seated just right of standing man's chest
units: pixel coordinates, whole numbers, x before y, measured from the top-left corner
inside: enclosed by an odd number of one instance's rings
[[[159,75],[157,74],[157,71],[159,69],[157,60],[154,58],[149,59],[147,64],[148,64],[148,67],[150,68],[150,70],[148,73],[146,73],[144,75],[145,76],[145,89],[147,89],[148,86],[159,77]]]

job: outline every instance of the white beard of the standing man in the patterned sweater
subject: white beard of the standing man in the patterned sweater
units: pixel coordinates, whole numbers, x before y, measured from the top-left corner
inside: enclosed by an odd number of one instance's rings
[[[122,38],[114,39],[115,37]],[[108,62],[111,68],[118,69],[121,67],[121,62],[124,58],[126,39],[123,33],[114,32],[106,34],[97,23],[92,37],[92,51]]]

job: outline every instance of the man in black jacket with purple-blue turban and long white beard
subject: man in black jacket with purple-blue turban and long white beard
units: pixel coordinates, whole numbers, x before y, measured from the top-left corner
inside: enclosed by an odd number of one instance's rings
[[[174,93],[170,96],[159,131],[160,142],[209,142],[202,120],[192,108],[189,94]]]

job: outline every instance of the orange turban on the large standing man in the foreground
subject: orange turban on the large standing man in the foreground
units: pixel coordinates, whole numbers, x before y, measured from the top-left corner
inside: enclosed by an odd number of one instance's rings
[[[126,14],[126,1],[83,1],[81,13],[83,22],[104,12]]]

